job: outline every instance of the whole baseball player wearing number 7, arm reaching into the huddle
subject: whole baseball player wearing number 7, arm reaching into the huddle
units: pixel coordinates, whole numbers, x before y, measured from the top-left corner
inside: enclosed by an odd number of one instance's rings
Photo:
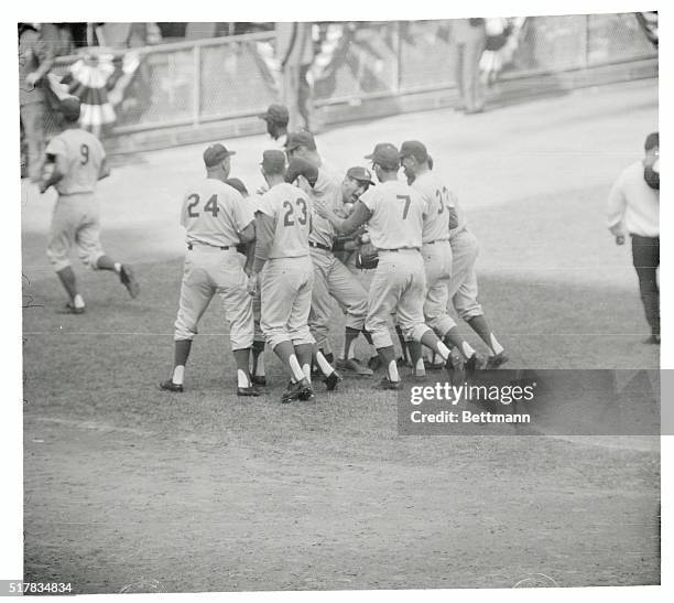
[[[381,389],[400,389],[395,352],[388,323],[393,312],[406,340],[414,340],[441,354],[453,372],[449,348],[424,323],[426,278],[421,255],[426,204],[422,195],[398,180],[400,155],[388,142],[377,144],[366,159],[372,160],[381,184],[370,189],[356,204],[351,215],[341,219],[320,205],[316,213],[327,218],[340,233],[350,233],[368,222],[372,244],[379,250],[368,300],[366,329],[371,333],[387,376]]]

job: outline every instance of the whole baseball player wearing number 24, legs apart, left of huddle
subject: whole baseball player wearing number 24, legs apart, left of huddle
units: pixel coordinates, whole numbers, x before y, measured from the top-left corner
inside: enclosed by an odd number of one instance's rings
[[[231,155],[222,144],[204,151],[206,177],[191,185],[184,196],[181,224],[185,228],[187,254],[175,321],[174,366],[164,391],[183,391],[185,365],[197,334],[197,325],[217,293],[229,321],[229,338],[237,364],[237,395],[258,396],[250,373],[253,342],[252,300],[237,245],[256,238],[254,215],[243,197],[228,184]],[[252,262],[252,250],[249,254]]]

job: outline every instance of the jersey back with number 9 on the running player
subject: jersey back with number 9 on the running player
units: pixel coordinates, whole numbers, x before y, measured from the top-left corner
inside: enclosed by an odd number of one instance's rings
[[[106,152],[100,141],[90,132],[73,128],[55,136],[45,153],[61,158],[63,177],[56,183],[62,195],[93,193],[100,175]]]

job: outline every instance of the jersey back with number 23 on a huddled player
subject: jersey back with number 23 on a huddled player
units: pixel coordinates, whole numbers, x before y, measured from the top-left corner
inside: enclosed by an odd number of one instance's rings
[[[258,211],[275,222],[270,259],[308,256],[313,205],[303,191],[286,182],[276,184],[262,195]]]

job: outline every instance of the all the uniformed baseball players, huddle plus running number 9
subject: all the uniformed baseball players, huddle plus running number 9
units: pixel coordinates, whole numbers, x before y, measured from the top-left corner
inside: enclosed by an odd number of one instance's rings
[[[40,187],[58,191],[47,255],[68,293],[66,311],[77,314],[85,304],[67,260],[73,245],[86,263],[116,271],[132,297],[139,286],[131,268],[106,256],[98,239],[94,191],[109,173],[102,147],[77,128],[76,100],[66,99],[63,112],[70,126],[50,143]],[[162,390],[184,390],[192,342],[216,294],[229,323],[239,396],[259,396],[267,385],[265,345],[290,377],[283,402],[313,399],[313,378],[335,389],[339,373],[371,377],[381,369],[376,387],[398,390],[400,363],[415,378],[432,367],[463,380],[508,359],[477,302],[477,240],[422,142],[405,141],[400,149],[378,143],[366,155],[376,177],[361,165],[336,175],[311,132],[287,131],[285,107],[273,105],[261,117],[276,146],[262,153],[265,185],[249,194],[230,177],[236,152],[218,143],[204,152],[205,177],[185,193],[187,250],[174,367]],[[369,288],[361,278],[366,269],[372,271]],[[345,314],[338,358],[329,336],[333,300]],[[463,337],[454,311],[485,342],[487,358]],[[372,349],[362,362],[355,354],[360,335]]]

